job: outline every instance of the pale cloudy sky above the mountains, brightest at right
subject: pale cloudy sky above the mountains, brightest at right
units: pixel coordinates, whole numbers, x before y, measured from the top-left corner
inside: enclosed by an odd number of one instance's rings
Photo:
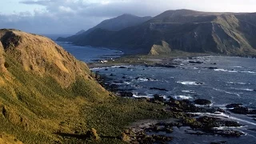
[[[156,16],[166,10],[256,12],[256,0],[1,0],[0,29],[75,34],[121,14]]]

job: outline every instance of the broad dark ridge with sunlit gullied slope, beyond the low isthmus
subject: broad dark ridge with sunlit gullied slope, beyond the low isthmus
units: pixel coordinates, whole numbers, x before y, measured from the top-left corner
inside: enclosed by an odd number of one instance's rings
[[[150,54],[156,46],[162,52],[168,46],[169,53],[183,50],[243,55],[256,54],[255,38],[256,13],[168,10],[138,26],[119,31],[98,29],[70,42],[112,47],[126,54]]]

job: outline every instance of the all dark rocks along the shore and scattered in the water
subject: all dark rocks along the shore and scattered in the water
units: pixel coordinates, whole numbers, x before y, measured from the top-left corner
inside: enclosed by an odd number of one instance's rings
[[[192,58],[190,58],[192,59]],[[202,64],[199,61],[189,61],[190,64]],[[143,66],[156,66],[177,68],[178,62],[162,62],[154,65]],[[216,65],[212,63],[211,65]],[[125,66],[119,66],[120,69],[125,69]],[[217,67],[206,67],[207,69],[218,69]],[[107,70],[107,69],[106,69]],[[96,73],[97,74],[97,73]],[[118,85],[108,82],[109,78],[99,78],[99,83],[106,87],[107,90],[114,92],[114,94],[120,97],[134,98],[131,90],[120,90]],[[151,87],[150,90],[166,91],[166,89]],[[195,99],[189,100],[177,100],[174,98],[166,99],[160,94],[154,94],[154,98],[139,98],[146,102],[157,103],[165,106],[162,109],[163,114],[171,114],[172,119],[157,121],[148,120],[147,122],[137,123],[136,126],[129,126],[122,133],[122,140],[130,143],[167,143],[173,140],[173,137],[169,134],[174,132],[175,127],[188,127],[190,131],[186,134],[201,135],[218,135],[225,138],[238,138],[245,133],[238,130],[242,125],[239,122],[229,120],[228,118],[218,118],[214,114],[250,114],[256,115],[256,110],[251,110],[242,104],[229,104],[226,105],[226,109],[220,107],[211,106],[212,102],[207,99]],[[153,110],[153,109],[152,109]],[[212,116],[199,115],[199,114],[212,114]],[[254,118],[255,119],[255,118]],[[224,127],[224,128],[223,128]],[[216,142],[212,142],[216,143]],[[218,142],[217,142],[218,143]],[[219,142],[226,143],[226,142]]]

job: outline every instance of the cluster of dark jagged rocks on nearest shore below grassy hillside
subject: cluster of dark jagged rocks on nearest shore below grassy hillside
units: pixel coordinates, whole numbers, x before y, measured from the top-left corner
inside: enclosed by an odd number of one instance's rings
[[[173,138],[168,134],[173,133],[174,127],[188,126],[194,132],[190,134],[195,135],[219,135],[228,138],[238,138],[244,133],[238,130],[232,129],[218,129],[218,127],[240,127],[238,122],[224,120],[222,118],[215,118],[209,116],[199,116],[193,113],[226,113],[217,107],[197,107],[193,102],[182,100],[178,101],[170,99],[168,101],[162,100],[162,98],[146,98],[147,102],[154,102],[162,105],[166,105],[166,109],[162,110],[165,113],[171,113],[173,118],[164,121],[148,120],[147,122],[141,122],[135,126],[130,126],[124,133],[130,139],[130,143],[166,143],[170,142]],[[206,102],[207,100],[198,100]],[[161,134],[158,134],[162,132]]]

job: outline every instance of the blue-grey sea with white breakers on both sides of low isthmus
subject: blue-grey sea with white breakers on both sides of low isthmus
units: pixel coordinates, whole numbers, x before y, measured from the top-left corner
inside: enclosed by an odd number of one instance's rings
[[[58,43],[76,58],[84,62],[105,61],[122,55],[120,51],[90,46],[73,46]],[[232,128],[245,133],[240,138],[226,138],[217,135],[197,136],[187,134],[187,127],[175,128],[170,134],[170,143],[256,143],[256,121],[245,114],[234,114],[227,110],[228,104],[242,104],[256,109],[256,59],[223,56],[178,58],[172,61],[175,68],[157,66],[111,66],[91,69],[108,78],[106,84],[118,86],[118,90],[133,93],[134,98],[152,98],[161,94],[164,98],[208,99],[210,106],[218,106],[226,112],[218,114],[201,113],[237,121],[243,126]],[[226,129],[220,127],[220,129]],[[193,141],[191,141],[193,139]]]

